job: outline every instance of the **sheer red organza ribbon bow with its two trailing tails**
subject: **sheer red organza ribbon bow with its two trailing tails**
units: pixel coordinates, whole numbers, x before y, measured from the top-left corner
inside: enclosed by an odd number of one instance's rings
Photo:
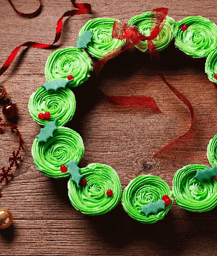
[[[99,75],[101,68],[104,66],[104,64],[107,62],[108,59],[135,46],[142,40],[147,40],[147,42],[148,42],[148,49],[149,49],[150,57],[152,57],[153,55],[159,57],[157,49],[152,40],[157,37],[157,35],[160,33],[162,27],[164,27],[164,24],[166,22],[167,13],[168,13],[168,8],[157,8],[151,12],[150,36],[144,36],[143,34],[141,34],[138,31],[138,28],[136,26],[123,24],[120,22],[114,22],[112,37],[120,39],[120,40],[125,40],[125,43],[121,47],[111,50],[110,52],[105,54],[101,59],[98,60],[98,62],[95,65],[96,75]],[[160,70],[158,70],[158,72],[159,72],[158,75],[164,81],[164,83],[170,88],[170,90],[172,90],[172,92],[180,100],[182,100],[183,103],[185,103],[186,106],[189,108],[190,113],[191,113],[191,125],[190,125],[190,128],[188,129],[188,131],[184,135],[171,141],[164,148],[161,148],[157,153],[155,153],[154,157],[157,156],[162,151],[164,151],[166,148],[170,147],[176,141],[178,141],[181,138],[183,138],[184,136],[186,136],[190,132],[190,130],[193,126],[193,120],[194,120],[194,111],[193,111],[193,107],[192,107],[190,101],[184,95],[182,95],[176,88],[171,86],[166,81],[164,75],[162,74],[162,72]],[[109,97],[110,101],[115,102],[120,105],[137,105],[137,98],[140,97],[139,105],[145,106],[145,107],[148,107],[148,108],[151,108],[151,109],[154,109],[154,110],[157,110],[160,112],[155,99],[152,97],[149,97],[149,96],[128,96],[128,97],[121,96],[121,97],[118,97],[118,100],[117,100],[116,96],[110,96],[110,95],[106,95],[106,96]]]

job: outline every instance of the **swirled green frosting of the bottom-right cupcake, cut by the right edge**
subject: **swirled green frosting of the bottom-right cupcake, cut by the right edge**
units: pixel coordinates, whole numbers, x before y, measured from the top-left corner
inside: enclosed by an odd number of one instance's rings
[[[203,165],[187,165],[179,169],[172,181],[176,204],[188,211],[209,211],[217,205],[217,181],[215,178],[199,182],[197,171],[209,168]]]

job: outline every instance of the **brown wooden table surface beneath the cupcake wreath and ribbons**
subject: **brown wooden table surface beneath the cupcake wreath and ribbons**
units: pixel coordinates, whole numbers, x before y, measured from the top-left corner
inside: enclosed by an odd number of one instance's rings
[[[36,0],[13,2],[24,13],[34,12],[39,6]],[[21,48],[0,78],[0,84],[16,101],[18,114],[12,121],[18,125],[25,146],[15,177],[1,188],[0,208],[13,212],[14,223],[0,231],[0,255],[216,255],[216,208],[197,213],[174,203],[164,219],[150,225],[129,217],[121,202],[102,216],[85,216],[70,203],[68,179],[46,177],[35,167],[31,146],[41,127],[29,115],[29,97],[45,84],[48,56],[56,49],[75,46],[81,27],[89,19],[110,17],[127,23],[135,15],[168,7],[168,16],[175,21],[200,15],[217,24],[217,7],[212,0],[88,3],[91,13],[64,18],[62,36],[55,46]],[[2,0],[0,66],[24,42],[52,43],[58,19],[70,9],[73,6],[69,0],[42,0],[40,14],[24,18]],[[92,76],[80,87],[72,88],[77,110],[66,127],[77,131],[84,141],[85,152],[79,167],[91,162],[113,167],[120,176],[122,190],[129,181],[147,173],[161,177],[172,188],[173,176],[183,166],[209,166],[206,152],[209,140],[217,132],[217,90],[204,72],[205,58],[188,57],[172,42],[160,52],[160,60],[167,81],[191,102],[195,119],[190,138],[156,158],[152,158],[155,152],[188,130],[191,116],[186,105],[158,77],[148,54],[132,48],[106,63],[99,83]],[[114,96],[152,96],[161,113],[143,107],[112,105],[102,91]],[[2,109],[4,101],[0,103]],[[8,129],[1,135],[0,143],[2,167],[17,148],[18,139]]]

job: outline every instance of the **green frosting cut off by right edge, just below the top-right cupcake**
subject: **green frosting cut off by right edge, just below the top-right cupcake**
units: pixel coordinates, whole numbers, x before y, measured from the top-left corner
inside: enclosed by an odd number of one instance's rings
[[[207,73],[210,81],[217,84],[214,75],[217,74],[217,49],[214,49],[207,57],[205,62],[205,73]]]

